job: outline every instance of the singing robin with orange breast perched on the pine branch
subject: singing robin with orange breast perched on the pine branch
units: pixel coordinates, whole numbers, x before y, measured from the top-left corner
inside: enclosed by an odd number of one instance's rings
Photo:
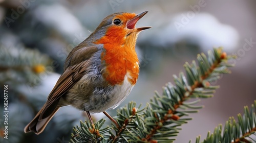
[[[139,75],[135,45],[139,33],[152,27],[136,28],[140,14],[119,12],[106,16],[88,38],[69,53],[62,75],[45,105],[24,128],[40,134],[60,107],[71,105],[87,113],[116,108],[131,92]]]

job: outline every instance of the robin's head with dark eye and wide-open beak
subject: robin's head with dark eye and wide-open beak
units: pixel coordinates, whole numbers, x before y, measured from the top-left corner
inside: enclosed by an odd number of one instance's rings
[[[97,43],[106,43],[110,39],[113,43],[120,45],[123,42],[136,43],[139,32],[151,27],[140,27],[136,28],[137,21],[143,17],[147,11],[141,14],[135,13],[114,13],[105,17],[98,28],[95,30],[94,35],[98,39]]]

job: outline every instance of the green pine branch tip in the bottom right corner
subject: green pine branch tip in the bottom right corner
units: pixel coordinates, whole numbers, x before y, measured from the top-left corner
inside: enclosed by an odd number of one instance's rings
[[[251,111],[248,106],[244,107],[244,115],[238,114],[238,122],[234,117],[229,117],[222,134],[222,125],[215,128],[214,133],[208,132],[204,143],[211,142],[256,142],[251,136],[256,135],[256,100],[251,105]],[[191,140],[189,141],[191,142]],[[197,137],[196,143],[200,142],[200,136]]]

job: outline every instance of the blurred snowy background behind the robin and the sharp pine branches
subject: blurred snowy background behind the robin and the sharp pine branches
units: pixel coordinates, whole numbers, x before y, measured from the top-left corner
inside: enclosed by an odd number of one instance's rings
[[[232,60],[232,74],[223,75],[212,85],[220,85],[194,120],[182,126],[175,142],[195,142],[205,138],[229,116],[243,113],[255,100],[256,85],[256,1],[68,1],[0,0],[0,84],[8,85],[8,139],[4,139],[4,118],[0,118],[0,142],[68,142],[79,121],[88,120],[73,107],[62,107],[40,135],[25,134],[24,127],[44,105],[62,73],[68,53],[92,33],[101,20],[116,12],[149,11],[138,23],[152,26],[140,33],[137,53],[140,75],[129,101],[142,103],[162,93],[173,83],[172,75],[183,64],[212,47],[223,46]],[[1,92],[3,91],[1,89]],[[3,92],[1,93],[3,94]],[[3,103],[1,96],[1,103]],[[1,114],[3,113],[1,104]],[[108,111],[115,115],[115,110]],[[95,120],[106,118],[94,114]],[[108,118],[106,121],[109,123]],[[107,124],[108,124],[107,123]]]

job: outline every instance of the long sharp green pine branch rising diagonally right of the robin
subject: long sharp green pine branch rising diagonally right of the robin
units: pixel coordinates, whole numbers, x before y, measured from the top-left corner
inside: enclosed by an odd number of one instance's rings
[[[145,113],[145,122],[147,118],[155,117],[147,127],[149,134],[142,138],[142,140],[161,140],[172,142],[173,139],[169,139],[169,136],[176,136],[177,133],[170,131],[178,131],[177,126],[181,126],[187,123],[190,118],[181,118],[183,115],[187,115],[185,111],[177,111],[178,108],[183,109],[199,109],[202,106],[194,106],[195,103],[185,103],[190,98],[208,98],[212,97],[212,94],[217,86],[211,86],[208,79],[218,78],[220,73],[229,73],[226,66],[221,66],[221,63],[227,61],[225,53],[222,53],[221,49],[214,49],[214,53],[208,52],[208,58],[204,55],[198,55],[197,57],[199,67],[196,62],[193,61],[191,65],[186,63],[184,65],[187,78],[183,73],[180,73],[179,77],[174,76],[176,86],[167,84],[163,89],[163,96],[160,97],[156,93],[154,100],[151,100],[151,108],[147,108]],[[221,69],[221,70],[220,70]],[[193,110],[193,112],[196,112]],[[147,125],[147,122],[145,123]],[[166,126],[172,126],[168,128]],[[158,134],[159,131],[163,131],[167,136],[164,138],[162,134]],[[169,131],[169,132],[168,132]]]

